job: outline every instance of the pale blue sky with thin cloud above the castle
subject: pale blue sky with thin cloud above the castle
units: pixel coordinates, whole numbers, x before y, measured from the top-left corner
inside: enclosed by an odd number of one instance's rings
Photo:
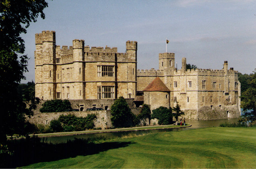
[[[198,68],[222,69],[224,60],[242,74],[256,68],[256,1],[254,0],[53,0],[46,18],[31,23],[25,40],[30,58],[26,80],[34,81],[35,34],[56,31],[56,45],[117,47],[138,42],[138,69],[158,69],[158,54],[175,53]]]

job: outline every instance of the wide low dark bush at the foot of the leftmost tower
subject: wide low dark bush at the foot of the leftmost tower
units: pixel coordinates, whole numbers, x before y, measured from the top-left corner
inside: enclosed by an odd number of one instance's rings
[[[42,108],[40,108],[40,112],[48,113],[48,112],[62,112],[68,111],[71,108],[71,104],[68,100],[47,100],[42,104]]]

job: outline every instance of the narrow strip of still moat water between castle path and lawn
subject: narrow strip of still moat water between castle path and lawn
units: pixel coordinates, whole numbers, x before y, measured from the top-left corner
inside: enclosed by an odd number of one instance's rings
[[[197,128],[205,128],[205,127],[218,127],[220,123],[223,122],[230,122],[234,123],[238,121],[238,118],[234,119],[214,119],[214,120],[186,120],[186,123],[191,124],[191,127],[180,128],[180,129],[161,129],[161,130],[146,130],[146,131],[125,131],[125,132],[118,132],[118,133],[98,133],[98,134],[83,134],[83,135],[70,135],[70,136],[59,136],[59,137],[45,137],[44,139],[46,142],[51,143],[65,143],[67,140],[74,140],[75,138],[79,139],[86,139],[91,137],[123,137],[128,134],[136,134],[142,135],[144,133],[158,133],[164,131],[181,131],[181,130],[188,130],[188,129],[197,129]]]

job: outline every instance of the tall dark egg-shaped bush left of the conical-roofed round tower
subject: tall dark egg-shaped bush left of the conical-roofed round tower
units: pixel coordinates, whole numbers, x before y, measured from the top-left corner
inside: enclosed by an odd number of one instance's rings
[[[128,127],[133,125],[133,114],[124,97],[119,97],[111,106],[111,121],[115,127]]]

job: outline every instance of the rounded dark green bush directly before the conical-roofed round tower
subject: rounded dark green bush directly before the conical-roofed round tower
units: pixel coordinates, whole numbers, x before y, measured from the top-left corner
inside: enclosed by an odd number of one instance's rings
[[[168,125],[172,123],[172,108],[168,109],[167,107],[160,106],[157,109],[152,110],[153,114],[151,118],[158,119],[159,125]]]

